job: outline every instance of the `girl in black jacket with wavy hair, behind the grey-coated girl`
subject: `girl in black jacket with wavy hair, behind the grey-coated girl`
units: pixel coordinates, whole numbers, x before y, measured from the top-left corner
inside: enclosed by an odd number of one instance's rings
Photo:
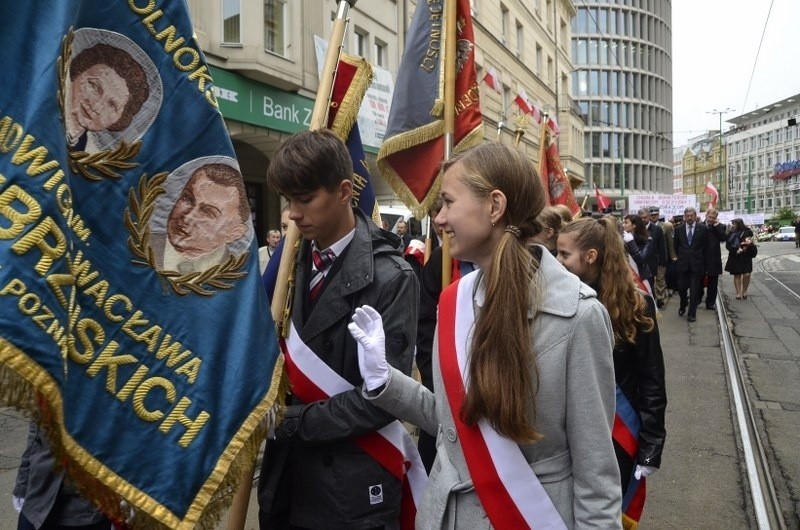
[[[635,452],[622,443],[615,428],[614,450],[623,499],[628,499],[628,488],[638,487],[639,479],[660,467],[666,438],[664,354],[655,304],[631,281],[625,249],[611,219],[584,218],[565,226],[558,237],[558,260],[597,291],[611,316],[614,377],[640,424]]]

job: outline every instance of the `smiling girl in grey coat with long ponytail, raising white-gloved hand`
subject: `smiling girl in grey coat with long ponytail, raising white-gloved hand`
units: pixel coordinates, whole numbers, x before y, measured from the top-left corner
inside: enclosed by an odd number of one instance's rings
[[[503,526],[502,518],[487,516],[484,505],[494,493],[478,492],[470,473],[470,467],[489,462],[467,461],[455,418],[469,426],[488,423],[513,442],[563,522],[553,527],[620,528],[608,314],[595,292],[544,247],[526,247],[540,229],[536,216],[546,199],[524,155],[487,143],[446,162],[444,169],[444,206],[435,222],[449,236],[453,257],[480,267],[460,280],[475,285],[466,296],[475,319],[466,343],[469,361],[460,409],[450,409],[444,391],[452,383],[443,379],[440,363],[440,354],[446,353],[440,348],[441,302],[435,393],[386,363],[377,312],[357,309],[350,324],[360,346],[365,396],[437,435],[437,457],[417,511],[417,528]]]

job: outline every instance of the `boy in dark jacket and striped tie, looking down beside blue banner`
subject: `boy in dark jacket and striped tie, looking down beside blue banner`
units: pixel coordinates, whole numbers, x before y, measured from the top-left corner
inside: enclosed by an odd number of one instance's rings
[[[394,418],[361,393],[358,346],[347,325],[354,308],[375,307],[386,329],[387,361],[410,374],[419,286],[400,239],[351,207],[352,178],[347,147],[325,129],[286,139],[267,169],[267,183],[286,197],[303,240],[291,314],[295,333],[284,350],[292,393],[262,463],[261,528],[397,525],[402,482],[375,456],[386,453],[385,445],[370,452],[375,444],[362,436]],[[310,356],[311,365],[295,362]],[[317,397],[323,392],[317,389],[328,388],[340,392]]]

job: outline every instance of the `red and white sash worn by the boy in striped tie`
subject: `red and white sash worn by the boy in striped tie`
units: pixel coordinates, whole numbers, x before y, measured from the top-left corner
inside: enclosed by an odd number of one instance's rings
[[[292,392],[303,402],[325,400],[353,389],[303,342],[294,324],[289,337],[280,343]],[[376,432],[354,438],[353,442],[403,484],[400,523],[403,529],[413,529],[428,475],[408,431],[395,420]]]

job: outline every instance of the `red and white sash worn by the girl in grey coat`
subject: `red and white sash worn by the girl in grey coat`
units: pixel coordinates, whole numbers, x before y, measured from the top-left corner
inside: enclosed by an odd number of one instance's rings
[[[495,431],[485,419],[470,426],[460,418],[466,395],[470,332],[475,322],[472,293],[477,277],[478,274],[464,276],[443,291],[439,299],[442,380],[472,483],[495,528],[565,529],[561,515],[519,445]]]

